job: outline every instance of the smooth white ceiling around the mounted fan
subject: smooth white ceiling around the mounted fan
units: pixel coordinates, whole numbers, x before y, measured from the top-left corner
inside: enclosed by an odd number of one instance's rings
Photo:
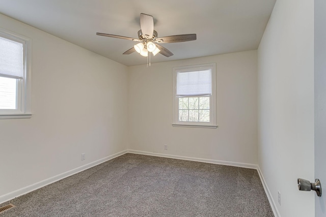
[[[174,53],[151,63],[258,48],[276,0],[0,0],[0,13],[32,25],[126,66],[142,65],[136,42],[140,13],[154,17],[158,37],[197,34],[196,41],[161,44]]]

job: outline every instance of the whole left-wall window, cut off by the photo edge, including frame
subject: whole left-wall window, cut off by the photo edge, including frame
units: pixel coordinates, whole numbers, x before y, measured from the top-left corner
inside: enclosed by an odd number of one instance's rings
[[[0,119],[31,117],[31,40],[0,28]]]

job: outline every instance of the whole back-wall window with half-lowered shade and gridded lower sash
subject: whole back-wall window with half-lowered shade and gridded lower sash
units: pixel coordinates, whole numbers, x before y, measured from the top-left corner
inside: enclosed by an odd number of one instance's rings
[[[173,126],[216,128],[216,64],[173,68]]]

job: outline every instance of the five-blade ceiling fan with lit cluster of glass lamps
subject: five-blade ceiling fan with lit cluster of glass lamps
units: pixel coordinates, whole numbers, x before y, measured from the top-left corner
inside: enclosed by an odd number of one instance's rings
[[[130,54],[134,51],[137,51],[142,56],[148,56],[149,53],[152,53],[155,56],[157,53],[160,53],[167,57],[172,56],[173,53],[159,44],[194,41],[197,39],[196,34],[165,36],[157,38],[157,32],[154,30],[153,17],[147,14],[141,14],[140,23],[141,29],[138,31],[138,39],[105,33],[96,33],[96,35],[140,42],[134,45],[129,50],[127,50],[126,52],[124,52],[123,54]]]

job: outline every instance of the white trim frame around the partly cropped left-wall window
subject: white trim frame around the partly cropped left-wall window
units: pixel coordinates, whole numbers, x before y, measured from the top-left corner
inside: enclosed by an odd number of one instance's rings
[[[0,36],[12,41],[22,42],[23,46],[23,79],[18,80],[19,110],[0,110],[0,119],[17,119],[32,117],[32,40],[0,27]],[[21,88],[21,91],[20,89]],[[21,95],[21,96],[20,96]]]

